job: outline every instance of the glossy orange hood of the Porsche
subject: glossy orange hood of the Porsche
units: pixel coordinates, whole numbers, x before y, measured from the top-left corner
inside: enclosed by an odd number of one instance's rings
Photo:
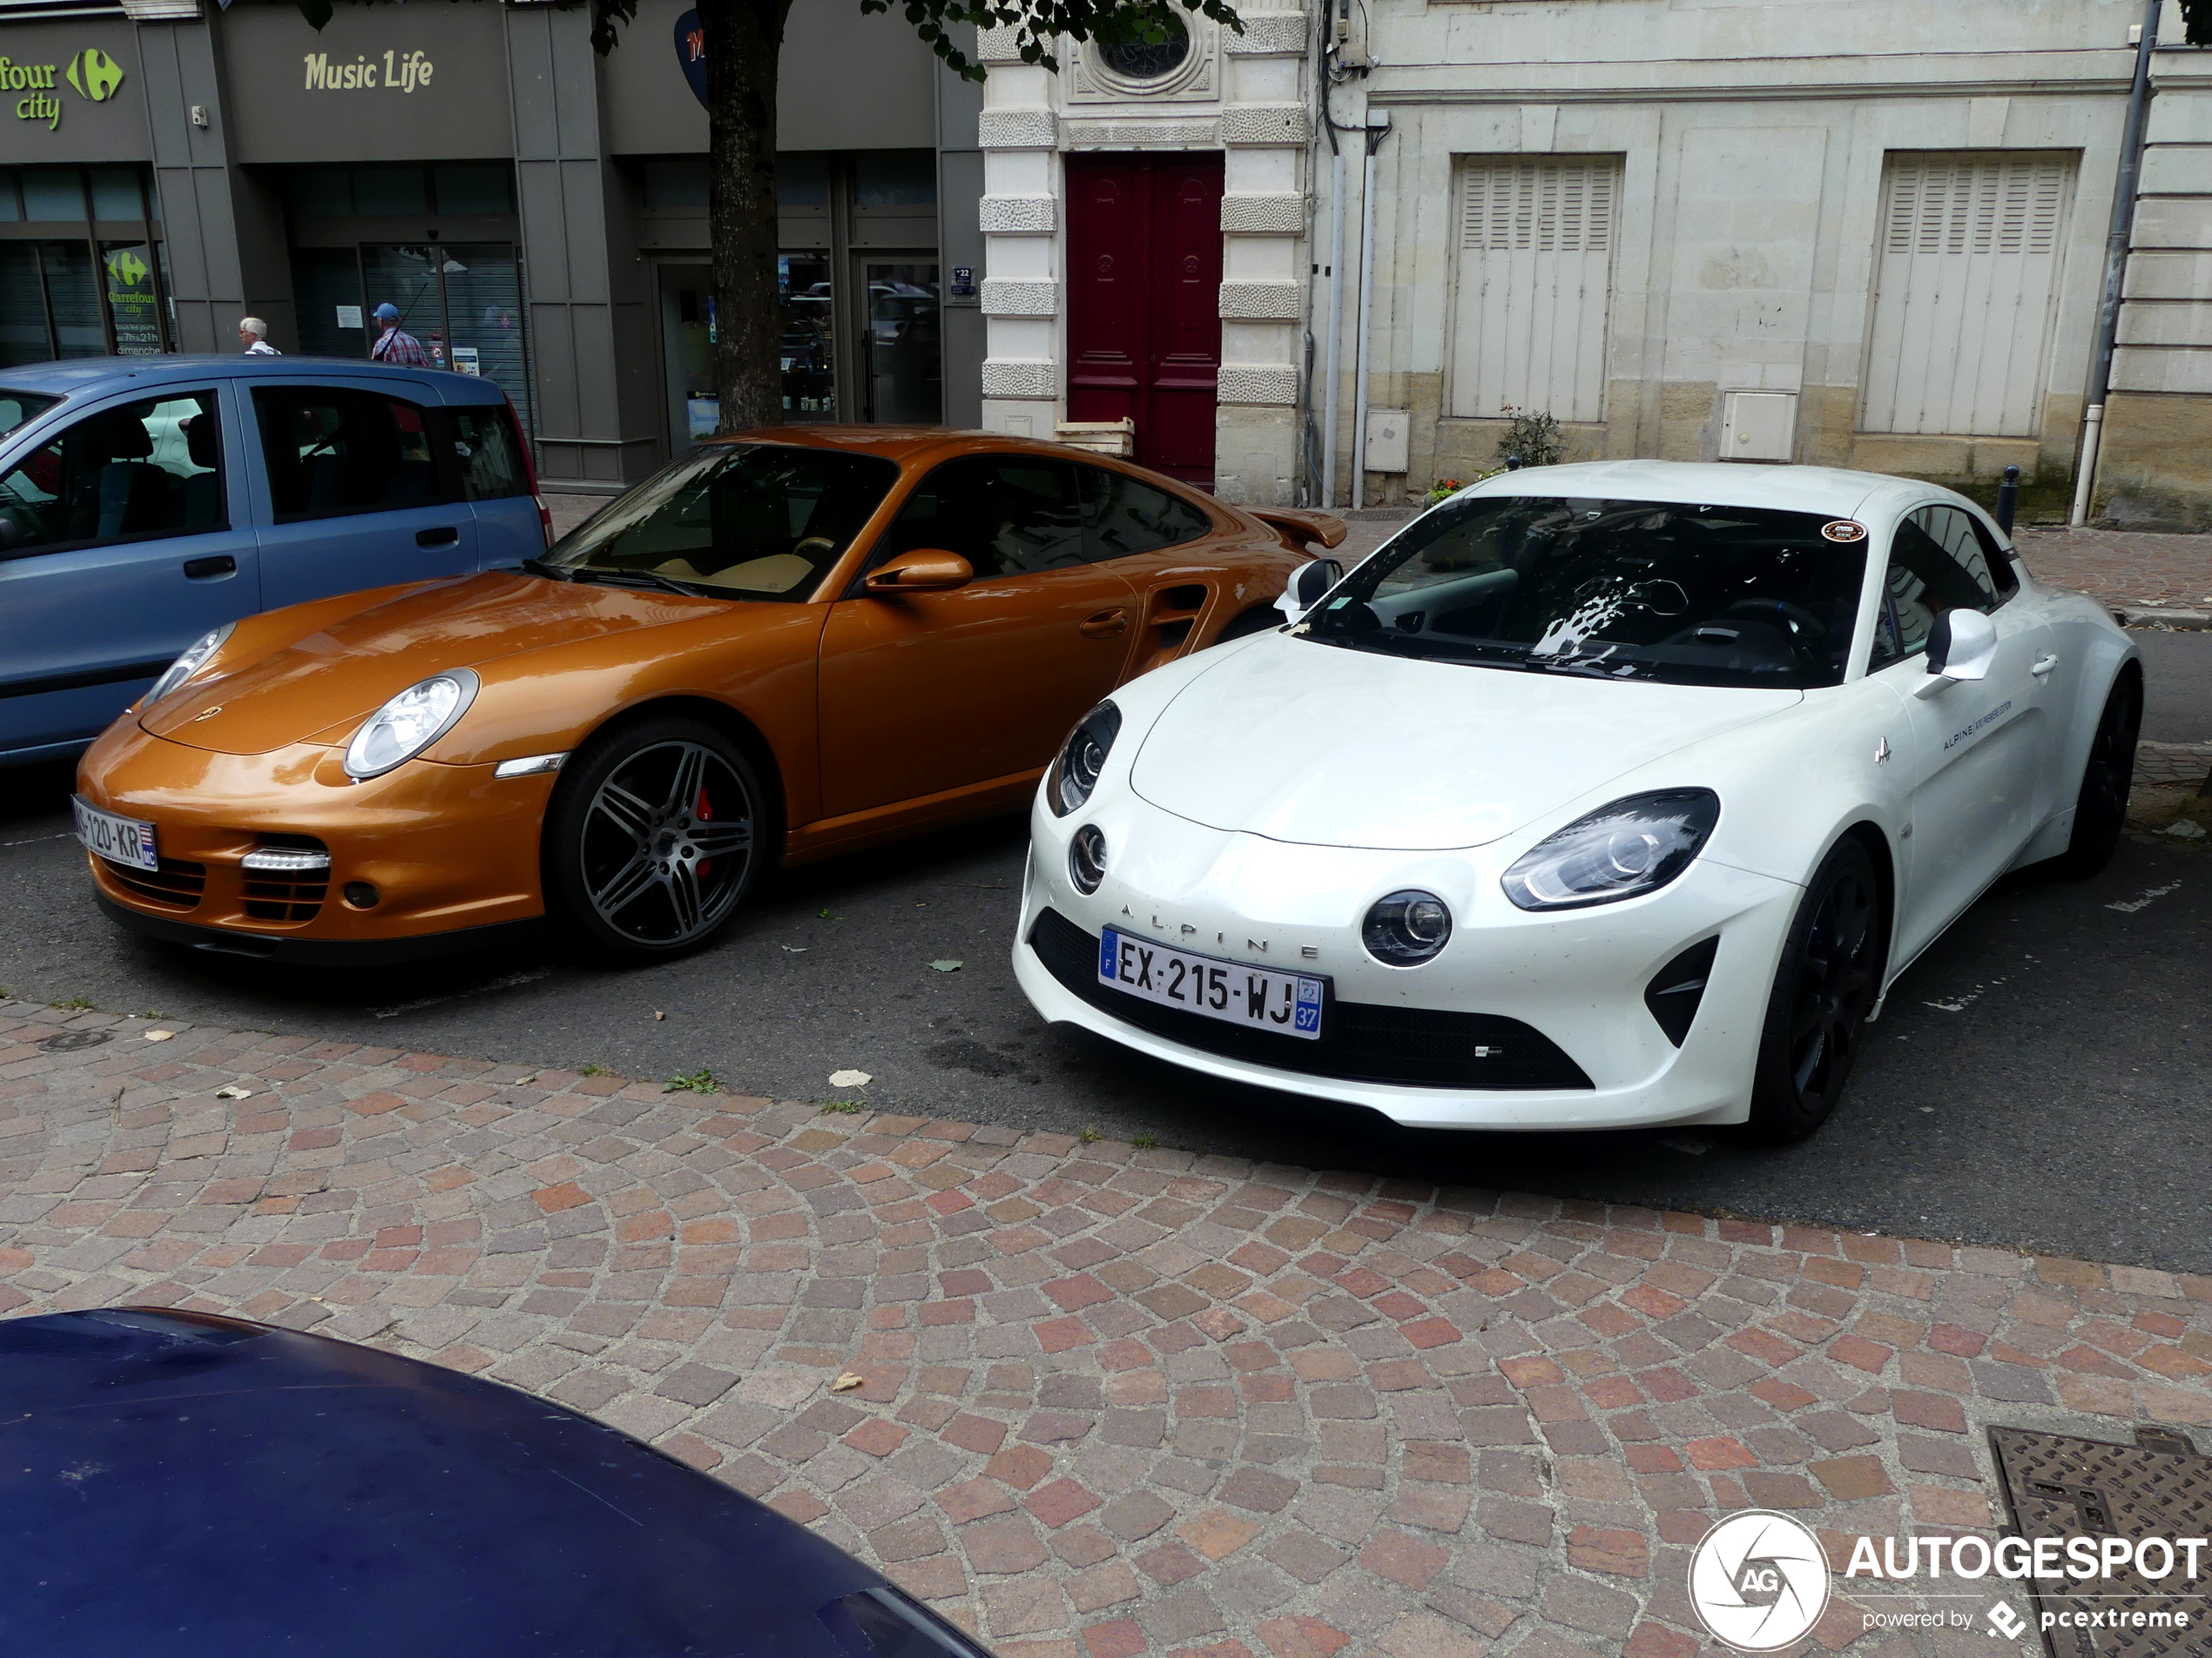
[[[352,727],[447,668],[484,670],[599,634],[728,612],[717,599],[529,575],[434,581],[354,610],[237,672],[190,683],[146,710],[139,725],[217,754],[270,754]]]

